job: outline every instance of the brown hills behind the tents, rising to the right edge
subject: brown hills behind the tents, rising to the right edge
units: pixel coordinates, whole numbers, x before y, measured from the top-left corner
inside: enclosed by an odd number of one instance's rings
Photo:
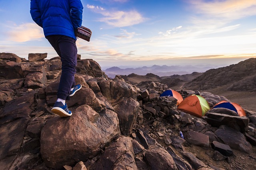
[[[158,67],[155,66],[155,68]],[[255,92],[256,58],[247,59],[226,67],[206,70],[205,72],[192,72],[191,74],[158,76],[151,73],[141,76],[133,73],[121,77],[139,88],[143,88],[150,82],[160,82],[172,89],[208,90],[225,86],[225,89],[230,91]]]

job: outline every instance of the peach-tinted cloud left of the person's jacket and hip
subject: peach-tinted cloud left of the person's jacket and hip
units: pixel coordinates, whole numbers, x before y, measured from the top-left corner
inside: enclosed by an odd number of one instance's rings
[[[24,23],[21,25],[8,26],[6,39],[15,42],[25,42],[44,37],[41,27],[36,23]]]

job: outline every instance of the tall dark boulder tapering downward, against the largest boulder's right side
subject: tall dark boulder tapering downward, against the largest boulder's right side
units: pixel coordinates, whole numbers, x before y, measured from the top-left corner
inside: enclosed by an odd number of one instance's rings
[[[132,133],[139,106],[139,102],[133,98],[122,98],[113,106],[118,115],[120,130],[123,135],[129,136]]]

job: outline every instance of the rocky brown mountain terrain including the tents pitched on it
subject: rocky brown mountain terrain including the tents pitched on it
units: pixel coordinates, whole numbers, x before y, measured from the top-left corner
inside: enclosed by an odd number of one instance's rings
[[[138,82],[78,55],[82,89],[61,118],[61,61],[46,57],[0,53],[0,170],[256,169],[256,58]]]

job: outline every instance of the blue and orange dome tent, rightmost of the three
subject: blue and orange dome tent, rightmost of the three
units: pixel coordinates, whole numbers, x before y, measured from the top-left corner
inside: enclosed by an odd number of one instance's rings
[[[239,116],[246,116],[246,113],[245,113],[244,109],[239,104],[236,104],[236,103],[232,103],[232,102],[222,100],[221,102],[217,103],[213,108],[218,108],[218,107],[233,110]]]

